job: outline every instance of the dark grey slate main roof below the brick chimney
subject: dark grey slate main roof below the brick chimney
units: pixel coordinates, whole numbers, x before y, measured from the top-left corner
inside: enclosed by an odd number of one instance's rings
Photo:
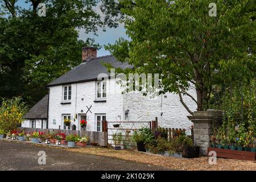
[[[106,67],[102,63],[112,64],[114,68],[125,69],[133,67],[127,63],[121,63],[117,61],[117,59],[115,59],[115,57],[112,55],[96,57],[95,59],[90,59],[85,63],[81,63],[76,68],[49,83],[47,86],[97,80],[97,77],[100,73],[106,73],[110,76],[110,73],[107,72]]]

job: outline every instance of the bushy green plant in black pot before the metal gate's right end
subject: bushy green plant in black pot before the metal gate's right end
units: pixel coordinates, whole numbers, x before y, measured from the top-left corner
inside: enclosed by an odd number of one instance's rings
[[[145,145],[154,140],[154,134],[149,128],[143,127],[138,131],[134,131],[133,140],[137,143],[138,151],[146,152]]]

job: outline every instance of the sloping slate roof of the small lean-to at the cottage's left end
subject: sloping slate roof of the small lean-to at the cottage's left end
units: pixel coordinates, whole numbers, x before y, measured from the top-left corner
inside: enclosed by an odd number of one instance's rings
[[[25,119],[47,119],[48,95],[44,96],[24,116]]]

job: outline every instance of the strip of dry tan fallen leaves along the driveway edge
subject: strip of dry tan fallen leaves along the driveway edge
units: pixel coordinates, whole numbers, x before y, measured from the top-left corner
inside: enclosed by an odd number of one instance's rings
[[[84,147],[66,149],[73,152],[109,156],[118,159],[131,160],[133,162],[146,163],[176,170],[256,170],[256,163],[245,160],[217,158],[216,165],[208,163],[209,158],[203,156],[194,159],[173,158],[161,155],[150,155],[144,152],[113,150],[102,147]]]

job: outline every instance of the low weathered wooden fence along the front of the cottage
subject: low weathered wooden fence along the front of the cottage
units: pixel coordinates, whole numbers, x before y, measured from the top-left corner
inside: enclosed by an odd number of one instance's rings
[[[30,127],[19,127],[18,131],[33,133],[42,131],[43,133],[65,133],[65,135],[76,134],[79,137],[88,136],[89,142],[97,142],[100,146],[108,146],[108,133],[98,131],[77,131],[77,130],[58,130],[58,129],[34,129]]]

